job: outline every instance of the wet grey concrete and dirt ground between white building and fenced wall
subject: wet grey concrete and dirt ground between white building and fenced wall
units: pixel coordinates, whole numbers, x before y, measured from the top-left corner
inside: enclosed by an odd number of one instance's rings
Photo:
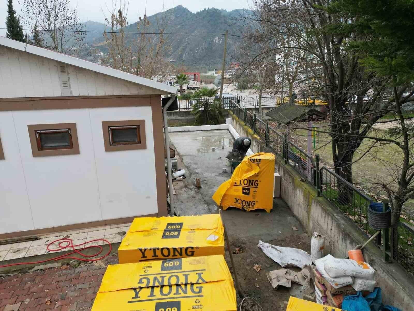
[[[230,167],[225,165],[224,159],[227,151],[233,147],[230,132],[173,132],[170,133],[170,140],[176,149],[178,169],[184,168],[187,172],[186,179],[173,182],[180,215],[217,213],[217,205],[211,197],[217,187],[231,177]],[[215,151],[212,151],[212,147],[215,147]],[[223,168],[227,168],[228,172],[223,173]],[[195,178],[201,180],[200,189],[195,187]],[[304,233],[286,203],[278,198],[274,199],[270,213],[260,209],[244,212],[234,208],[223,211],[223,217],[232,242],[232,251],[235,248],[241,249],[241,253],[234,255],[234,260],[243,292],[258,301],[265,311],[286,310],[285,301],[291,295],[300,297],[301,287],[292,283],[291,289],[279,287],[275,291],[267,280],[266,272],[281,267],[267,258],[257,245],[262,240],[310,253],[310,237]],[[298,230],[292,227],[297,227]],[[228,253],[226,260],[233,273]],[[253,270],[255,264],[261,265],[260,272]],[[296,271],[298,270],[300,269]]]

